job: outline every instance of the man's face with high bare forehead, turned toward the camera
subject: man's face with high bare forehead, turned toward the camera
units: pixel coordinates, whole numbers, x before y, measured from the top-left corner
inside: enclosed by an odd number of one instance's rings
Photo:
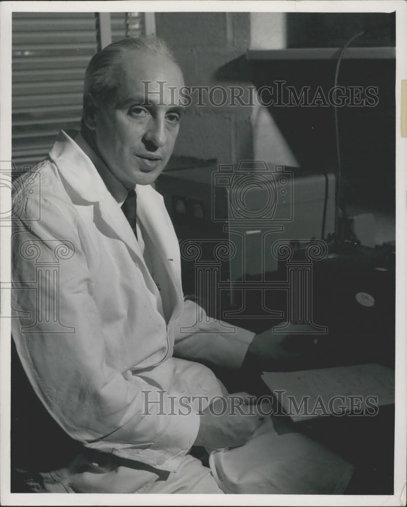
[[[184,83],[169,58],[143,50],[130,51],[121,69],[116,99],[96,106],[95,136],[105,163],[130,189],[153,183],[166,166],[178,135]]]

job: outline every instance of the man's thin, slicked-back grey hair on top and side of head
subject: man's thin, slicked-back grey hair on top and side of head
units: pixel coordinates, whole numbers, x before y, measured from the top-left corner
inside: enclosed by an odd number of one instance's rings
[[[86,69],[84,98],[90,93],[95,101],[112,102],[120,84],[121,62],[129,51],[137,49],[155,55],[167,56],[178,66],[174,53],[167,43],[155,35],[140,35],[139,37],[122,39],[109,44],[93,55]]]

